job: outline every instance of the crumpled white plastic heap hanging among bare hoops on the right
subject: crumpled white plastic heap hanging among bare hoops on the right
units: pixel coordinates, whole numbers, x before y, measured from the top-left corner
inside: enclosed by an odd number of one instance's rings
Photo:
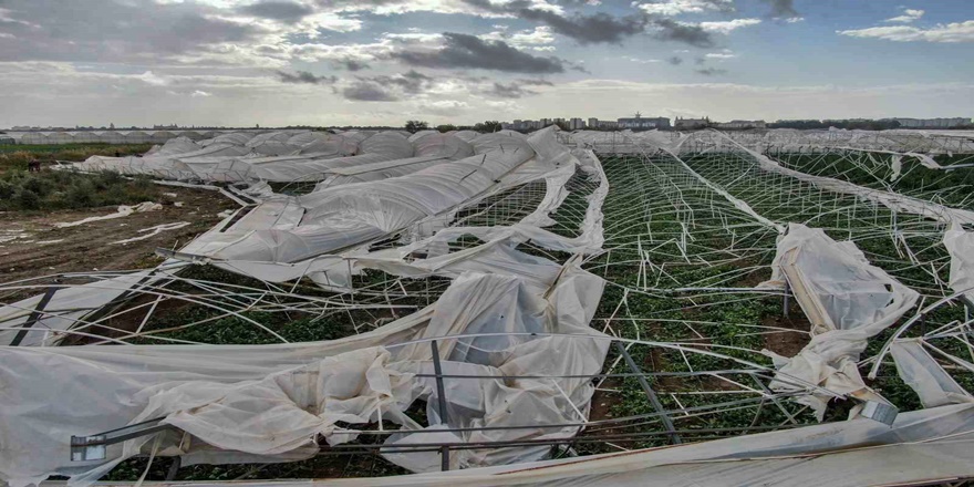
[[[837,242],[823,230],[800,224],[790,224],[778,242],[773,270],[773,283],[787,277],[796,301],[811,321],[812,338],[790,359],[767,350],[763,353],[787,376],[838,393],[864,391],[872,395],[859,374],[859,355],[869,338],[913,308],[919,293],[871,266],[854,244]],[[771,388],[796,390],[777,381]],[[821,421],[828,400],[810,395],[798,402],[812,407]]]

